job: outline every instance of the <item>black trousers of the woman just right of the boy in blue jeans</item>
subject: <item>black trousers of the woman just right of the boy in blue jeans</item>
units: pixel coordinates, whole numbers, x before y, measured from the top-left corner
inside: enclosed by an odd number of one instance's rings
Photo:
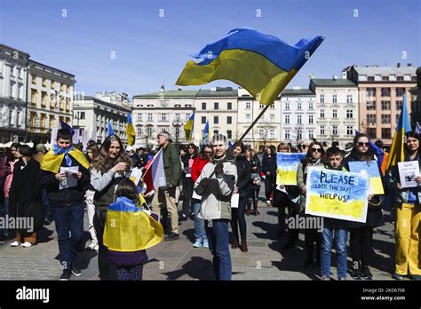
[[[373,227],[362,226],[351,228],[350,248],[353,262],[361,261],[362,266],[369,265],[369,257],[373,241]]]

